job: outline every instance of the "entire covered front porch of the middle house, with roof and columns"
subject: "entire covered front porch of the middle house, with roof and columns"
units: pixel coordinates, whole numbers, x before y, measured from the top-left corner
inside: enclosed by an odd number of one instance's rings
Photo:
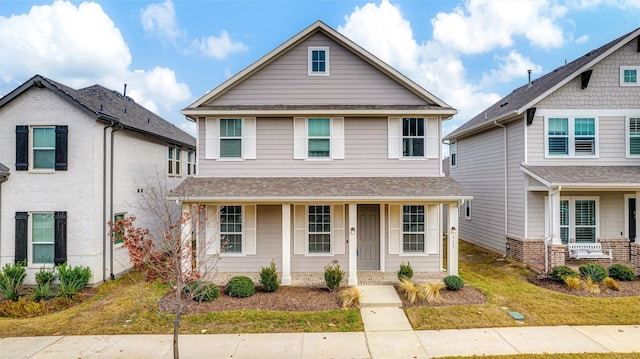
[[[323,284],[333,264],[348,285],[393,283],[403,262],[457,274],[458,203],[470,198],[446,177],[190,178],[174,193],[189,194],[172,197],[184,210],[206,206],[215,219],[197,240],[217,258],[216,281],[257,276],[273,260],[283,285]]]

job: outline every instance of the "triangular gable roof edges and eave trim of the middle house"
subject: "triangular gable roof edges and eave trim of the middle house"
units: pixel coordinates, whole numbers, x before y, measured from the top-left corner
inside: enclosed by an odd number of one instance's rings
[[[216,98],[220,97],[225,92],[229,91],[231,88],[233,88],[237,84],[243,82],[245,79],[249,78],[250,76],[252,76],[256,72],[260,71],[262,68],[264,68],[268,64],[272,63],[277,58],[279,58],[280,56],[282,56],[283,54],[285,54],[286,52],[288,52],[289,50],[294,48],[296,45],[300,44],[305,39],[308,39],[309,37],[313,36],[316,33],[322,33],[325,36],[329,37],[331,40],[335,41],[336,43],[338,43],[339,45],[341,45],[342,47],[344,47],[345,49],[347,49],[348,51],[350,51],[354,55],[358,56],[359,58],[361,58],[362,60],[367,62],[369,65],[373,66],[377,70],[379,70],[379,71],[383,72],[384,74],[386,74],[387,76],[389,76],[391,79],[393,79],[397,83],[401,84],[407,90],[411,91],[414,95],[416,95],[416,96],[420,97],[421,99],[425,100],[425,102],[429,103],[429,105],[426,105],[426,106],[382,106],[380,108],[377,108],[376,106],[343,106],[343,105],[323,105],[323,106],[315,106],[315,107],[314,106],[303,106],[303,105],[300,105],[300,106],[295,106],[295,105],[294,106],[291,106],[291,105],[289,105],[289,106],[287,106],[287,105],[283,105],[283,106],[224,106],[224,107],[216,108],[216,109],[217,110],[221,110],[221,111],[231,112],[231,113],[233,111],[241,112],[241,111],[256,110],[256,109],[261,109],[261,110],[266,110],[266,111],[275,111],[275,112],[288,112],[288,113],[300,112],[300,113],[303,113],[305,110],[308,111],[310,107],[313,107],[314,109],[317,109],[317,110],[322,110],[322,111],[327,112],[329,114],[333,113],[334,111],[340,111],[340,110],[344,110],[344,109],[348,109],[353,113],[358,113],[359,111],[364,112],[364,111],[368,111],[368,110],[380,110],[380,109],[384,109],[384,110],[391,111],[391,112],[393,112],[393,111],[405,111],[406,112],[406,111],[409,111],[409,110],[412,110],[412,109],[413,110],[428,109],[428,110],[433,110],[434,113],[435,112],[439,112],[441,114],[450,115],[450,116],[452,116],[452,115],[454,115],[456,113],[456,110],[454,108],[452,108],[451,106],[449,106],[448,104],[446,104],[444,101],[442,101],[441,99],[439,99],[438,97],[436,97],[435,95],[430,93],[429,91],[425,90],[423,87],[421,87],[417,83],[413,82],[408,77],[404,76],[403,74],[401,74],[400,72],[395,70],[393,67],[389,66],[388,64],[386,64],[382,60],[378,59],[377,57],[375,57],[374,55],[372,55],[371,53],[369,53],[368,51],[366,51],[365,49],[363,49],[362,47],[360,47],[359,45],[357,45],[353,41],[349,40],[347,37],[345,37],[344,35],[340,34],[336,30],[332,29],[331,27],[329,27],[328,25],[326,25],[324,22],[322,22],[320,20],[314,22],[309,27],[307,27],[306,29],[302,30],[300,33],[298,33],[294,37],[290,38],[289,40],[287,40],[286,42],[284,42],[283,44],[281,44],[280,46],[278,46],[277,48],[275,48],[274,50],[272,50],[271,52],[269,52],[268,54],[266,54],[265,56],[263,56],[262,58],[260,58],[256,62],[254,62],[253,64],[251,64],[250,66],[248,66],[247,68],[245,68],[244,70],[240,71],[239,73],[237,73],[233,77],[229,78],[228,80],[226,80],[225,82],[223,82],[222,84],[220,84],[219,86],[214,88],[213,90],[209,91],[207,94],[202,96],[200,99],[198,99],[197,101],[195,101],[194,103],[189,105],[187,108],[183,109],[181,111],[181,113],[183,115],[185,115],[185,116],[188,116],[188,117],[190,117],[190,116],[194,116],[195,117],[197,115],[202,114],[202,112],[199,111],[198,109],[203,104],[205,104],[205,103],[207,103],[207,102],[209,102],[211,100],[215,100]]]

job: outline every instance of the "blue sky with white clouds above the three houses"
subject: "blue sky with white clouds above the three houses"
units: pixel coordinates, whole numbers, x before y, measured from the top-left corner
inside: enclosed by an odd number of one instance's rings
[[[0,96],[35,74],[180,110],[316,20],[459,113],[640,27],[640,0],[0,0]]]

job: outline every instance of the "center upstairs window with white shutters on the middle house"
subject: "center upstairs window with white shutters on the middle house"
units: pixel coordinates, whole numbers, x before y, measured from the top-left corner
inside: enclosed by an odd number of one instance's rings
[[[344,159],[344,118],[293,119],[293,158]]]

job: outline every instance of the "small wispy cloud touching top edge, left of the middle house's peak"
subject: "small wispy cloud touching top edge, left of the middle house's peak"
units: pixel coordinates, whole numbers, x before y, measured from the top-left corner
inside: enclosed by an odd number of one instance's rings
[[[183,31],[178,28],[176,10],[171,0],[151,4],[142,10],[142,28],[148,33],[166,38],[172,44],[183,35]]]

